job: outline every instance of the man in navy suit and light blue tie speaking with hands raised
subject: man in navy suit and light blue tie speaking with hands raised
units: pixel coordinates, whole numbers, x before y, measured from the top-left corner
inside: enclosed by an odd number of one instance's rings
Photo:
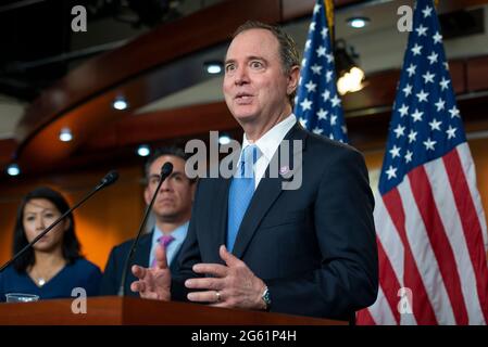
[[[139,280],[132,288],[142,297],[345,320],[375,301],[374,200],[364,159],[297,123],[298,79],[286,33],[254,22],[238,28],[223,85],[245,130],[238,169],[230,179],[200,181],[179,275],[172,281],[162,248],[155,268],[133,267]],[[296,189],[287,189],[286,140],[301,144],[289,146],[293,176],[302,178]]]

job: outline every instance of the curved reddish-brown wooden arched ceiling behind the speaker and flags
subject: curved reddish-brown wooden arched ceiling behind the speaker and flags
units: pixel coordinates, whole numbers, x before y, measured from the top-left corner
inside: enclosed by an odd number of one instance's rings
[[[440,2],[439,12],[483,5],[488,1]],[[229,34],[249,18],[285,24],[302,46],[300,41],[306,35],[304,27],[313,3],[292,0],[224,1],[162,25],[121,48],[87,61],[42,92],[22,117],[15,131],[15,142],[9,140],[4,146],[11,150],[13,145],[13,155],[23,168],[36,171],[70,163],[76,154],[91,158],[88,154],[93,151],[110,153],[110,149],[132,146],[141,141],[190,137],[209,129],[236,131],[237,124],[220,97],[220,78],[210,78],[203,72],[203,63],[221,60]],[[390,1],[343,0],[336,1],[336,5],[338,23],[341,23],[337,33],[350,41],[384,37],[385,28],[391,26],[392,21],[395,23],[395,17],[388,17],[388,14],[395,16],[397,4]],[[342,24],[343,17],[358,13],[377,17],[374,25],[362,34],[363,38]],[[483,52],[483,46],[474,47],[478,49],[477,54],[479,50]],[[456,48],[452,50],[455,53]],[[350,115],[389,113],[387,105],[391,104],[398,80],[397,60],[401,62],[403,54],[401,48],[397,51],[391,54],[390,63],[385,63],[388,59],[381,62],[381,66],[387,68],[383,73],[375,72],[377,59],[363,59],[366,70],[372,73],[371,85],[362,92],[345,98],[343,104]],[[381,52],[387,53],[387,49]],[[483,57],[463,57],[451,64],[458,92],[467,94],[488,89],[486,81],[477,76],[488,66],[486,62]],[[470,75],[473,68],[476,70]],[[128,111],[118,112],[111,107],[120,95],[128,99]],[[470,105],[466,102],[466,110],[473,107]],[[355,121],[360,128],[363,127],[363,120]],[[58,140],[63,127],[72,129],[74,141],[62,143]],[[358,134],[355,138],[362,137]],[[1,159],[7,163],[5,157]],[[80,159],[80,163],[88,165],[89,159]]]

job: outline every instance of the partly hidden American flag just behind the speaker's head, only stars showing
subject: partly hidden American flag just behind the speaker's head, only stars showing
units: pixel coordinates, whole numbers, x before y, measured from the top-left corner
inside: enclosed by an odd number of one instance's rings
[[[295,115],[304,128],[333,140],[348,142],[323,0],[318,0],[313,9],[295,100]]]

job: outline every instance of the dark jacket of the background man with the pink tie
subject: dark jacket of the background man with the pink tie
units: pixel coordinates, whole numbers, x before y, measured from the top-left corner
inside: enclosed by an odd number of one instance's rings
[[[139,244],[136,248],[133,260],[130,261],[127,278],[125,281],[125,295],[139,296],[139,293],[134,293],[133,291],[130,291],[130,283],[137,280],[136,277],[132,273],[130,268],[133,265],[142,266],[145,268],[149,267],[149,254],[151,253],[152,234],[153,232],[145,234],[139,239]],[[100,295],[118,294],[118,287],[121,286],[122,281],[122,272],[124,271],[124,265],[133,242],[134,240],[129,240],[112,248],[109,260],[107,261],[105,271],[103,272],[100,285]],[[175,261],[175,259],[178,257],[180,250],[182,248],[179,248],[178,253],[175,255],[172,264],[170,265],[172,274],[177,274],[178,272],[179,265],[178,261]]]

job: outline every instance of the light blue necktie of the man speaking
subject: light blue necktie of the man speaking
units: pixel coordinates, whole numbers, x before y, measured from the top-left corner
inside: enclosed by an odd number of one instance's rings
[[[229,252],[234,248],[240,222],[248,209],[252,194],[254,194],[253,166],[259,154],[260,151],[255,144],[246,146],[239,160],[238,170],[230,182],[227,221],[227,249]]]

